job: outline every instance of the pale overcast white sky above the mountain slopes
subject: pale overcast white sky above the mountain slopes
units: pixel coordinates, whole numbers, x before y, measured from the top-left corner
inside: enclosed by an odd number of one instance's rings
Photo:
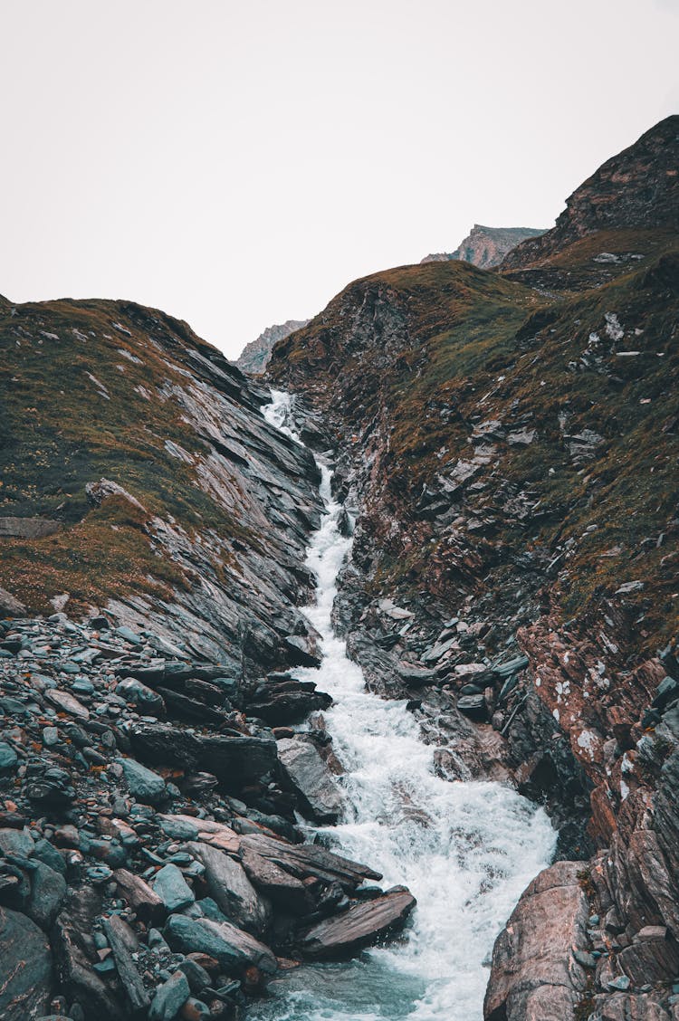
[[[0,293],[237,357],[679,112],[679,0],[0,0]]]

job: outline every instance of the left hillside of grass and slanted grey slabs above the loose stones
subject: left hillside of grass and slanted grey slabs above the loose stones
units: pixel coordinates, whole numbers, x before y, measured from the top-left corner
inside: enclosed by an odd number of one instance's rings
[[[236,676],[298,662],[318,471],[262,417],[266,392],[132,303],[0,309],[0,344],[8,596],[102,610]]]

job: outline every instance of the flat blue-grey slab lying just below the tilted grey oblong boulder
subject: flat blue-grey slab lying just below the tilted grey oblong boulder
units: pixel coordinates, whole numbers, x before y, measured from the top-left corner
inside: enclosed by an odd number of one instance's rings
[[[164,936],[172,947],[183,954],[205,954],[214,958],[228,975],[240,977],[250,966],[265,975],[275,975],[278,968],[276,957],[268,946],[230,922],[172,915]]]

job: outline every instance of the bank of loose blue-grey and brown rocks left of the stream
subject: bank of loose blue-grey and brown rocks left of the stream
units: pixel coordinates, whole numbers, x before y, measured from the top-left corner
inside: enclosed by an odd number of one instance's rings
[[[2,1017],[238,1018],[399,929],[407,890],[295,823],[341,811],[329,702],[105,616],[0,623]]]

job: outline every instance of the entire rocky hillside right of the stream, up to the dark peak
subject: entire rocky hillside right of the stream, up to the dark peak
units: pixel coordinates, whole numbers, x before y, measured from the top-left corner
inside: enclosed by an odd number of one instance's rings
[[[339,451],[337,617],[370,684],[560,826],[489,1021],[677,1016],[678,125],[500,274],[356,281],[270,364]]]

